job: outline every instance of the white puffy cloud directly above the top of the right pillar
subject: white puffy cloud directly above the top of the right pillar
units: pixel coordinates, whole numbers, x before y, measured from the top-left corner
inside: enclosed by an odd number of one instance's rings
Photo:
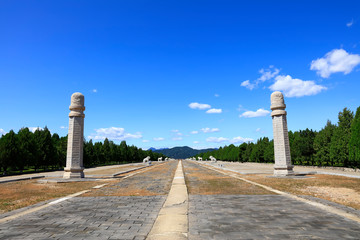
[[[290,75],[279,75],[275,83],[269,87],[272,91],[283,91],[286,97],[303,97],[320,93],[327,88],[314,81],[303,81]]]

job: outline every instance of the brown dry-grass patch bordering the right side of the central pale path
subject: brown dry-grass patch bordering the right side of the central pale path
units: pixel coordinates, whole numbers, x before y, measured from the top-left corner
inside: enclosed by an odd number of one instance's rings
[[[189,194],[274,194],[263,188],[216,173],[193,163],[184,163],[185,181]]]

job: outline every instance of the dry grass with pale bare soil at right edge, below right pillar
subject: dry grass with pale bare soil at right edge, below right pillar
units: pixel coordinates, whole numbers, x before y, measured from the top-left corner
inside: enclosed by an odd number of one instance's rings
[[[360,209],[360,179],[333,175],[312,178],[282,179],[264,175],[241,175],[251,181],[296,195],[308,195]]]

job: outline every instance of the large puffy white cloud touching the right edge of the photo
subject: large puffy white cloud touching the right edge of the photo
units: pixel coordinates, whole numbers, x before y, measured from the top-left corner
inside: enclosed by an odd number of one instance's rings
[[[359,64],[360,55],[349,54],[344,49],[334,49],[325,57],[313,60],[310,69],[317,71],[321,77],[328,78],[337,72],[349,74]]]

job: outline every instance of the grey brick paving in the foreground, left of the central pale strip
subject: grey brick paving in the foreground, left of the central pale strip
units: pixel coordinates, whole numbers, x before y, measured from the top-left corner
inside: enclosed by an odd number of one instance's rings
[[[0,239],[145,239],[165,199],[76,197],[0,224]]]

